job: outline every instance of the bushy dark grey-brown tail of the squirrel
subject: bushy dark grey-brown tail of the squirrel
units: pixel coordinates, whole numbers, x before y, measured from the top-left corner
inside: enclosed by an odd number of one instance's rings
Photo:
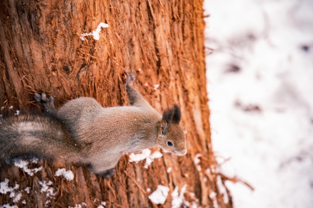
[[[62,124],[44,115],[18,115],[0,121],[0,163],[16,157],[75,160],[75,144]],[[75,162],[75,161],[74,161]]]

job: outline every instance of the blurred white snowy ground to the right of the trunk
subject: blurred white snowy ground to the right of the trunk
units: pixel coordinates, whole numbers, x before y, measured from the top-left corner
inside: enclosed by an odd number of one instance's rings
[[[313,0],[206,0],[213,149],[236,208],[313,208]],[[209,53],[211,50],[207,50]]]

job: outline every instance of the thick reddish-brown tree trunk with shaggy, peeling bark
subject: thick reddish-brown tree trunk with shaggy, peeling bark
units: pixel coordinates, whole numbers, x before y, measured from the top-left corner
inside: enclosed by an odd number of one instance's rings
[[[53,95],[56,106],[79,96],[94,97],[104,107],[128,105],[125,72],[132,72],[134,87],[158,112],[179,104],[188,150],[180,157],[162,152],[148,169],[145,161],[129,162],[126,155],[110,180],[74,164],[29,162],[31,170],[43,167],[32,176],[12,165],[0,170],[0,182],[7,178],[9,187],[20,186],[11,198],[12,191],[2,191],[0,205],[171,207],[178,187],[182,207],[232,206],[211,148],[201,1],[2,0],[0,6],[2,112],[38,110],[34,92]],[[80,38],[100,22],[109,27],[99,40]],[[74,179],[56,176],[60,168],[72,170]],[[169,188],[163,205],[148,198],[158,185]]]

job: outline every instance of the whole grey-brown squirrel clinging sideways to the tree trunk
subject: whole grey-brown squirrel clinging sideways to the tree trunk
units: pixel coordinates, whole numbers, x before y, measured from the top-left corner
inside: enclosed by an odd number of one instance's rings
[[[35,93],[47,115],[18,115],[0,122],[0,160],[21,155],[63,159],[85,164],[105,178],[126,152],[159,147],[176,155],[187,153],[178,105],[161,116],[134,89],[134,75],[126,74],[130,106],[103,108],[92,97],[67,101],[56,109],[54,98]]]

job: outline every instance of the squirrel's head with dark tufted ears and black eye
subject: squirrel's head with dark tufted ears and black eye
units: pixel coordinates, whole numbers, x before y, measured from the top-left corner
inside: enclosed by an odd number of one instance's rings
[[[177,105],[163,112],[156,143],[163,151],[177,155],[187,153],[185,133],[179,126],[180,109]]]

